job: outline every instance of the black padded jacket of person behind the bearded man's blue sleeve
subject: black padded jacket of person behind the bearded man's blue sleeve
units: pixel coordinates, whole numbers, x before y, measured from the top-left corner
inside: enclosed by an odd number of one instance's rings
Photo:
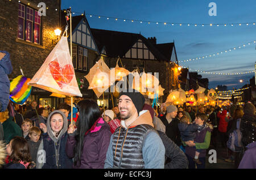
[[[160,138],[166,149],[166,158],[170,159],[170,162],[164,165],[165,169],[186,169],[188,166],[187,156],[181,149],[162,132],[158,131]]]

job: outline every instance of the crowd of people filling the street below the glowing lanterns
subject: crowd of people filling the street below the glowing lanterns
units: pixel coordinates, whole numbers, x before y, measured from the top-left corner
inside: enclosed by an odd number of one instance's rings
[[[9,102],[0,113],[5,169],[204,169],[210,145],[228,150],[234,168],[256,168],[255,106],[152,107],[131,89],[112,109],[94,100],[55,109]],[[73,117],[71,118],[71,109]],[[72,119],[72,121],[71,121]]]

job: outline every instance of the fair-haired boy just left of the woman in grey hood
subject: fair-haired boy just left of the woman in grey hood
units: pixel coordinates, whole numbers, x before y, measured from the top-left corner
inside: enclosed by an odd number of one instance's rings
[[[30,155],[32,157],[32,161],[36,163],[37,155],[38,155],[38,148],[41,143],[40,139],[41,130],[38,127],[32,127],[28,136],[30,140],[28,140],[28,145],[30,147]]]

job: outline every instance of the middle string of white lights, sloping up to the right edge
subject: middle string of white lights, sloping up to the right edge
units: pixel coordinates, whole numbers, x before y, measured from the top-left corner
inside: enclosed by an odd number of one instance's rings
[[[243,45],[236,46],[236,47],[234,47],[234,48],[230,48],[230,49],[228,49],[228,50],[222,50],[222,51],[220,51],[220,52],[218,52],[218,53],[213,53],[213,54],[209,54],[209,55],[204,55],[204,56],[202,56],[202,57],[197,57],[197,58],[192,58],[192,59],[181,60],[181,61],[179,61],[179,62],[193,62],[193,61],[199,60],[199,59],[205,59],[205,58],[210,58],[210,57],[216,57],[217,55],[226,54],[226,53],[231,52],[231,51],[233,51],[233,50],[238,50],[238,49],[247,47],[248,45],[255,44],[255,43],[256,43],[256,41],[251,41],[251,42],[247,42],[247,43],[245,43],[245,44],[243,44]]]

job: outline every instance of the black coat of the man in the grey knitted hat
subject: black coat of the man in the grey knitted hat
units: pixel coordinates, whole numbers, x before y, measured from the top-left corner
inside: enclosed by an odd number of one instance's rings
[[[180,130],[177,126],[180,122],[179,119],[172,119],[170,123],[168,123],[166,119],[166,115],[160,117],[161,121],[163,122],[164,126],[166,126],[166,135],[170,138],[175,144],[180,147],[181,139],[180,139]]]

